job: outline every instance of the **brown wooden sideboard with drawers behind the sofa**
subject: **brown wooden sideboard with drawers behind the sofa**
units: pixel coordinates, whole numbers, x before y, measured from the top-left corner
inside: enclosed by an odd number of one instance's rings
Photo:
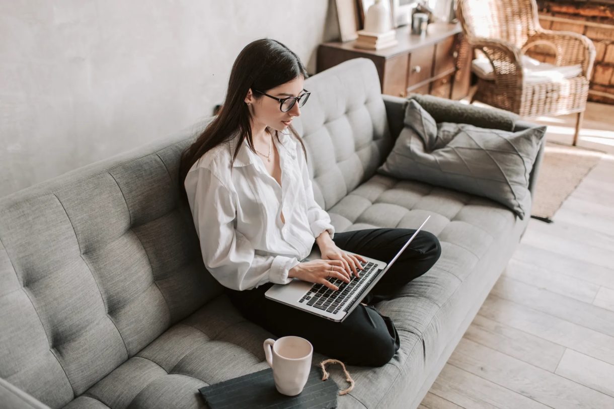
[[[453,99],[467,96],[471,53],[460,25],[432,23],[425,36],[411,34],[410,26],[396,31],[398,44],[381,50],[356,49],[355,41],[319,45],[317,72],[364,57],[375,63],[384,94],[405,97],[416,92]]]

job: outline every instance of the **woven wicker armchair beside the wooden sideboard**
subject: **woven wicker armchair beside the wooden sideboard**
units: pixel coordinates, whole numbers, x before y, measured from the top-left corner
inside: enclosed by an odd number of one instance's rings
[[[484,52],[494,71],[493,80],[478,78],[472,102],[480,101],[527,118],[577,112],[575,145],[595,60],[593,42],[581,34],[543,29],[535,0],[458,0],[457,16],[468,44]],[[521,55],[534,45],[556,50],[556,66],[580,64],[581,74],[527,83]]]

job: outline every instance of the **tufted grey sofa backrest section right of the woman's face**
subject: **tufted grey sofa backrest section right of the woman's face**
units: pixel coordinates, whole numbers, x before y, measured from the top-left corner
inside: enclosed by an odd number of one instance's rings
[[[373,61],[344,61],[304,87],[311,95],[293,123],[307,150],[314,197],[328,210],[375,174],[394,141]]]

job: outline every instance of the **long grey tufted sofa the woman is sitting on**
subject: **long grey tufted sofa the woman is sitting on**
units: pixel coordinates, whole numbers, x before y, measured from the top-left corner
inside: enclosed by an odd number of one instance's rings
[[[406,100],[381,95],[370,60],[305,87],[311,100],[295,126],[336,229],[416,227],[430,214],[427,230],[441,241],[432,270],[376,305],[397,325],[397,355],[348,367],[356,386],[338,397],[340,408],[417,407],[528,220],[375,173]],[[207,273],[178,200],[181,151],[204,123],[0,200],[0,407],[204,407],[198,388],[267,368],[262,342],[273,334],[246,321]]]

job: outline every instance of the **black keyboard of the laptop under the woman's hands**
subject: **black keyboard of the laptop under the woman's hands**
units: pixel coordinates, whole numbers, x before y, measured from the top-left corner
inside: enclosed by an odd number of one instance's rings
[[[299,300],[300,303],[314,306],[319,310],[327,311],[328,313],[336,314],[343,308],[348,300],[356,293],[362,282],[368,281],[373,273],[377,271],[375,264],[368,262],[360,262],[364,270],[359,270],[360,278],[350,276],[350,281],[345,282],[339,278],[329,277],[328,282],[339,287],[338,290],[332,290],[324,284],[314,283],[305,295]],[[364,289],[363,289],[364,290]],[[362,292],[362,291],[361,291]],[[353,304],[353,303],[352,303]]]

